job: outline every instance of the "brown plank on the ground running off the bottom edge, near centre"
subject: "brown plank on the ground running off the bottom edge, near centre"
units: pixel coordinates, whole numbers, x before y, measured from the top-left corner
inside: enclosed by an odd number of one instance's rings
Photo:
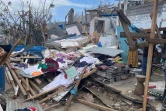
[[[111,109],[111,108],[108,108],[108,107],[105,107],[105,106],[101,106],[101,105],[98,105],[98,104],[95,104],[95,103],[91,103],[91,102],[88,102],[88,101],[85,101],[85,100],[82,100],[82,99],[77,99],[76,101],[79,102],[79,103],[88,105],[90,107],[100,109],[102,111],[117,111],[117,110],[114,110],[114,109]]]

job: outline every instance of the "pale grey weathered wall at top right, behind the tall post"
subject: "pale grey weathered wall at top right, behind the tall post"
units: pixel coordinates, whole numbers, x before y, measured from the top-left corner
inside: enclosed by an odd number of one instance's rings
[[[151,28],[151,18],[150,14],[153,9],[153,3],[137,6],[130,8],[127,11],[127,17],[132,24],[138,28]],[[162,22],[163,21],[163,22]],[[166,1],[159,3],[158,15],[157,15],[157,24],[158,26],[166,27]]]

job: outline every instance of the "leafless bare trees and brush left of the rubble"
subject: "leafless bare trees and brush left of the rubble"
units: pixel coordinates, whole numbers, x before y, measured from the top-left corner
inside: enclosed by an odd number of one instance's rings
[[[36,1],[35,1],[36,2]],[[54,7],[54,0],[46,5],[46,0],[37,8],[33,7],[30,1],[26,3],[20,0],[20,10],[12,11],[12,2],[5,4],[0,0],[0,26],[6,36],[12,36],[13,42],[18,37],[23,36],[23,44],[36,43],[36,45],[45,45],[47,36],[47,22],[51,20],[51,8]],[[26,8],[28,7],[28,8]]]

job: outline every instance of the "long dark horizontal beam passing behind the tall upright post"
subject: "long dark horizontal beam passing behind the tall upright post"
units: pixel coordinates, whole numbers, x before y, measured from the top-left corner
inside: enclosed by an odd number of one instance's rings
[[[132,37],[133,39],[135,39],[135,38],[144,38],[144,39],[150,38],[150,33],[135,33],[135,32],[130,32],[130,35],[131,35],[131,37]],[[120,33],[120,37],[121,37],[121,38],[125,38],[125,37],[126,37],[126,34],[125,34],[124,32],[121,32],[121,33]],[[155,38],[157,38],[157,37],[158,37],[158,35],[155,34]],[[161,37],[162,37],[163,39],[166,39],[166,34],[161,34]]]

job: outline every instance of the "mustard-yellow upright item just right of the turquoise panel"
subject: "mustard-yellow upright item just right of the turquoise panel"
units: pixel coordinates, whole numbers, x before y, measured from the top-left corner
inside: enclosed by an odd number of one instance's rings
[[[138,50],[128,51],[128,65],[138,67]]]

